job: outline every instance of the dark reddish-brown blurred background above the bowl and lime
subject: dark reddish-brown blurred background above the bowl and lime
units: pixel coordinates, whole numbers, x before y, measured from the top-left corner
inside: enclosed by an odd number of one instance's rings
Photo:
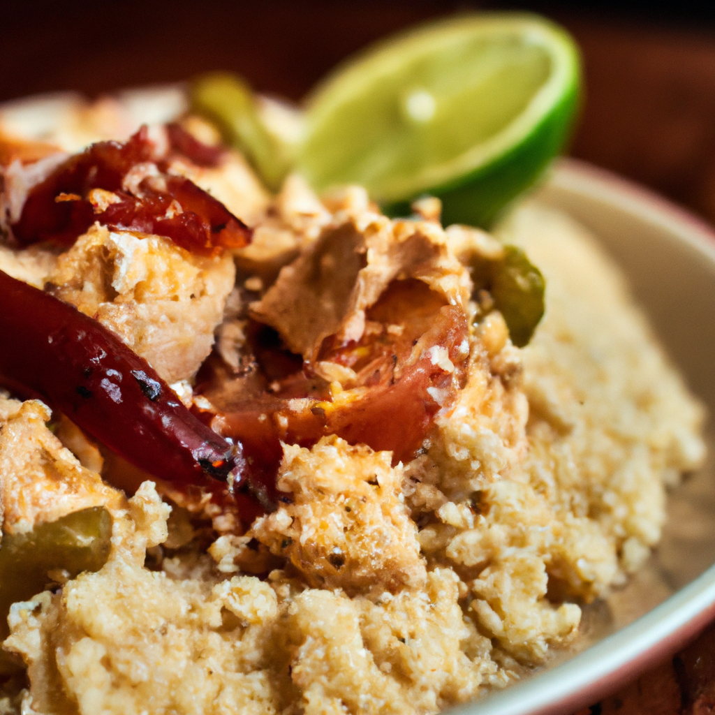
[[[648,184],[715,223],[715,4],[684,0],[0,0],[0,102],[36,92],[242,73],[300,99],[380,36],[468,9],[528,9],[569,29],[586,100],[571,153]]]

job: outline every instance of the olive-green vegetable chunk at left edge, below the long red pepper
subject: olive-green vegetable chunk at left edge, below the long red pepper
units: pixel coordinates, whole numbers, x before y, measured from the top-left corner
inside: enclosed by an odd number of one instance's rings
[[[74,578],[99,571],[109,557],[112,517],[101,506],[83,509],[0,541],[0,641],[8,636],[10,606],[27,601],[56,582],[62,569]],[[52,573],[50,573],[52,572]],[[0,674],[10,663],[0,656]]]

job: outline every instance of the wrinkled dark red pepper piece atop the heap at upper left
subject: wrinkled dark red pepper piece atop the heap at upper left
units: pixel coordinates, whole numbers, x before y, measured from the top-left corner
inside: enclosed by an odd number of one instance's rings
[[[132,185],[137,169],[147,174]],[[112,228],[166,236],[201,255],[250,242],[250,229],[220,201],[185,177],[162,172],[147,127],[127,142],[98,142],[70,157],[32,189],[11,226],[21,246],[42,241],[72,245],[95,222]],[[112,192],[107,205],[89,192]]]

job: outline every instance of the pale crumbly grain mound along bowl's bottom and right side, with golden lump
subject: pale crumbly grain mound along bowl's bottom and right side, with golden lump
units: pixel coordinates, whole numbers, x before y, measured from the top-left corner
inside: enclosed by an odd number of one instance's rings
[[[428,453],[393,468],[337,438],[287,447],[295,503],[222,536],[215,563],[161,571],[144,551],[167,538],[167,508],[145,483],[115,511],[101,571],[14,606],[5,647],[29,665],[26,705],[433,713],[573,638],[576,601],[658,541],[666,485],[703,456],[703,414],[583,229],[528,204],[501,237],[546,276],[546,316],[524,350],[501,315],[482,320]]]

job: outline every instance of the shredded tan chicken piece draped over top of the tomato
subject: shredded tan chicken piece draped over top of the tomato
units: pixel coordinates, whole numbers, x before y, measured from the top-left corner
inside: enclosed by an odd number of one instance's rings
[[[251,312],[275,327],[292,352],[315,360],[329,335],[360,340],[365,310],[398,278],[422,280],[455,305],[468,301],[468,276],[438,225],[392,222],[372,212],[342,221],[338,212],[335,225],[281,270]]]

